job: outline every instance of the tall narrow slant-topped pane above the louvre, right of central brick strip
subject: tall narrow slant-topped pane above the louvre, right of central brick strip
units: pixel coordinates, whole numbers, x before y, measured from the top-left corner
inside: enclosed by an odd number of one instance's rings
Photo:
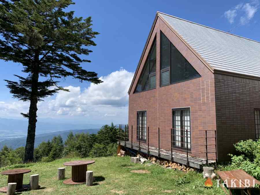
[[[170,66],[170,41],[161,33],[161,69]]]

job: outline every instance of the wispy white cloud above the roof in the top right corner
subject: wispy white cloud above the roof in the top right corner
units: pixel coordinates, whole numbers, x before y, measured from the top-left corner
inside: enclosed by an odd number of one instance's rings
[[[259,9],[259,0],[251,0],[249,3],[239,3],[234,8],[224,12],[224,16],[229,23],[233,24],[235,18],[239,16],[239,23],[245,25],[248,23]]]

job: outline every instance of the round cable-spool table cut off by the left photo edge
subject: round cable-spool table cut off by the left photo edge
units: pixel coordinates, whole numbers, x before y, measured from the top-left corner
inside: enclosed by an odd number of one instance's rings
[[[31,169],[11,169],[3,171],[0,174],[8,175],[7,183],[17,183],[16,191],[23,191],[29,188],[29,185],[23,185],[23,174],[31,172]],[[0,192],[7,192],[7,186],[1,187]]]

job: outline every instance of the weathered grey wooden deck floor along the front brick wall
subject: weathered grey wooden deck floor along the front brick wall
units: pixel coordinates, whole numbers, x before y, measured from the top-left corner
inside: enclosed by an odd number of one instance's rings
[[[120,145],[122,145],[122,146],[125,146],[125,144],[126,144],[127,148],[131,148],[131,142],[130,141],[126,141],[126,142],[121,141],[120,142]],[[133,143],[133,149],[138,151],[139,150],[139,144]],[[148,146],[140,144],[140,151],[142,153],[147,153],[148,152]],[[150,151],[150,155],[158,157],[158,153],[159,153],[158,148],[149,146],[149,151]],[[163,159],[171,160],[171,151],[160,149],[160,157],[163,158]],[[185,154],[172,152],[172,157],[173,157],[174,162],[187,165],[187,156]],[[203,166],[206,164],[206,159],[188,156],[188,162],[189,162],[190,167],[202,169]],[[212,160],[208,161],[208,164],[213,164],[213,163],[216,163],[216,162],[212,161]]]

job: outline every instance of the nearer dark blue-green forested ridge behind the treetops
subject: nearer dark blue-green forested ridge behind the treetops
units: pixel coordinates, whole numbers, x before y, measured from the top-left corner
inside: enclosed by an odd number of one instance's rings
[[[99,129],[67,130],[67,131],[55,131],[51,133],[38,134],[35,136],[34,147],[36,148],[41,142],[47,142],[48,140],[51,140],[54,136],[57,135],[61,135],[63,141],[65,141],[67,139],[68,134],[71,131],[73,132],[73,134],[78,134],[78,133],[91,134],[91,133],[97,133]],[[3,140],[0,142],[0,149],[2,149],[4,145],[16,149],[18,147],[25,146],[25,144],[26,144],[26,137],[16,138],[11,140]]]

